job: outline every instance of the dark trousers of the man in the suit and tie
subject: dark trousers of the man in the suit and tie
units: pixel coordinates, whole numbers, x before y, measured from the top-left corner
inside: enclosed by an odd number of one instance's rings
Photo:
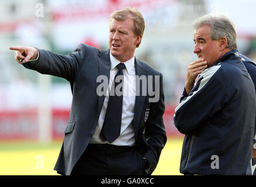
[[[136,147],[89,144],[71,175],[143,175],[145,167]]]

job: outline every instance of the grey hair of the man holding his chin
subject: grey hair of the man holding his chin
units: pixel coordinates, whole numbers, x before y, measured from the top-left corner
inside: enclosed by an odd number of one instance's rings
[[[237,50],[236,29],[234,23],[227,16],[209,14],[196,19],[193,23],[195,30],[205,25],[210,26],[210,38],[212,40],[226,37],[227,48]]]

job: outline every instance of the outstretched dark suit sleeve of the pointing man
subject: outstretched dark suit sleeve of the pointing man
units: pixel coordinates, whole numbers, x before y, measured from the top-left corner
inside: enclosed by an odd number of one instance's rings
[[[68,55],[55,54],[47,50],[39,50],[39,59],[36,61],[23,63],[23,66],[40,72],[41,74],[62,77],[67,81],[72,81],[84,62],[86,46],[80,44],[73,53]]]

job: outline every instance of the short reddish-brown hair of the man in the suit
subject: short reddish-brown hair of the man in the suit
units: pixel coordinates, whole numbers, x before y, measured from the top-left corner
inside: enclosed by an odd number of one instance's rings
[[[130,6],[127,6],[126,8],[120,11],[112,12],[109,17],[110,17],[110,22],[112,21],[112,19],[115,19],[117,21],[124,21],[127,18],[133,19],[134,34],[136,34],[137,36],[140,36],[140,35],[143,36],[144,29],[145,29],[145,22],[144,22],[143,16],[136,8],[131,8]],[[139,47],[139,46],[140,46],[140,43],[137,44],[136,47]]]

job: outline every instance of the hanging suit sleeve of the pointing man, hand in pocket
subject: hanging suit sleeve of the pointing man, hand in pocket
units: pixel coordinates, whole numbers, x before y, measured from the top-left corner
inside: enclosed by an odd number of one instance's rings
[[[162,148],[167,141],[166,131],[164,127],[164,91],[162,86],[162,74],[160,75],[160,97],[157,102],[151,102],[150,115],[145,124],[145,136],[149,149],[144,153],[144,157],[150,162],[151,174],[157,167],[157,163],[161,154]]]

